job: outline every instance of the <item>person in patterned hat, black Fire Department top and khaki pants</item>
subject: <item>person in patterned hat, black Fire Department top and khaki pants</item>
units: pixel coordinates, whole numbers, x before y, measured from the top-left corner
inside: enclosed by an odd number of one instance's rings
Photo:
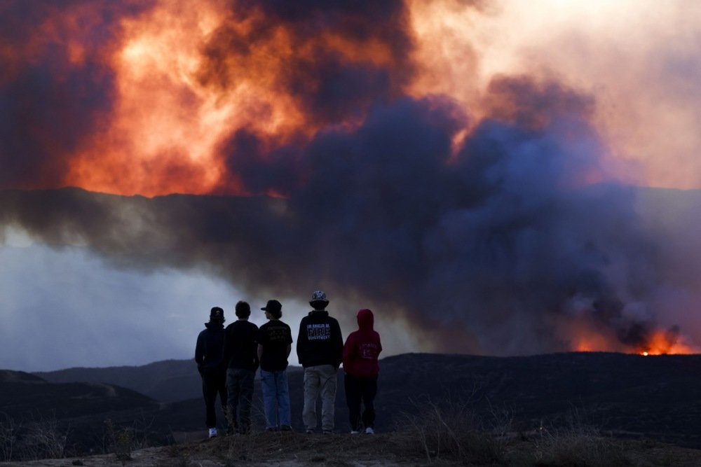
[[[314,292],[309,305],[313,310],[301,319],[297,336],[297,358],[304,367],[302,421],[306,432],[313,433],[318,424],[316,401],[321,396],[321,429],[323,433],[332,433],[343,336],[339,322],[326,311],[329,300],[324,292]]]

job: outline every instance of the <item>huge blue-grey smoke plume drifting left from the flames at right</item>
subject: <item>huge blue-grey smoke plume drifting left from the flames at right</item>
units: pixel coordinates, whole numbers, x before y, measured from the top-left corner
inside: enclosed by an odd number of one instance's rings
[[[660,258],[634,193],[580,183],[604,153],[587,106],[524,83],[539,112],[553,102],[545,124],[484,120],[457,153],[468,116],[442,97],[378,105],[356,130],[273,153],[233,135],[231,172],[284,199],[5,192],[1,220],[125,267],[198,267],[289,297],[325,284],[404,314],[444,351],[570,349],[558,319],[642,345],[655,323],[636,307]]]

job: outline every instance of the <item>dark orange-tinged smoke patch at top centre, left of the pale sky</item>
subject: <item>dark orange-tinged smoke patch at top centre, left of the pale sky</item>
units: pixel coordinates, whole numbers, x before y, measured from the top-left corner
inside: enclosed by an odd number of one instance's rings
[[[259,60],[257,48],[287,50],[271,57],[271,69],[278,69],[273,87],[294,97],[312,123],[333,124],[362,118],[372,104],[400,97],[414,76],[402,1],[239,0],[231,8],[237,23],[220,27],[203,51],[200,79],[207,85],[236,85],[238,74],[250,69],[247,62]],[[250,31],[241,31],[242,20],[252,23]],[[288,43],[271,43],[279,29]],[[343,46],[330,37],[342,38]],[[383,48],[382,64],[372,60],[379,55],[373,47]]]

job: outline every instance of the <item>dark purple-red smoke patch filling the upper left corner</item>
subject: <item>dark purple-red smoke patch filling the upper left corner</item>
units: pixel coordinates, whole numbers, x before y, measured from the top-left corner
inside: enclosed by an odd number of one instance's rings
[[[60,185],[68,158],[111,109],[104,55],[136,1],[3,1],[0,6],[0,186]],[[80,44],[83,60],[70,57]]]

